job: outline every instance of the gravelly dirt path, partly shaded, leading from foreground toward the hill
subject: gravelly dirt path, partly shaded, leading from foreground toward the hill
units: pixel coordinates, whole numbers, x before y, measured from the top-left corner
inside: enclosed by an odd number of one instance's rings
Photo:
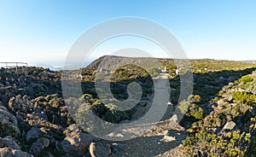
[[[168,78],[167,73],[160,73],[155,79]],[[156,80],[157,81],[157,80]],[[166,84],[161,85],[162,88],[166,88]],[[138,114],[143,116],[143,113],[148,111],[150,106],[147,106],[140,110]],[[143,111],[145,110],[145,112]],[[162,121],[157,124],[143,124],[133,126],[132,128],[125,129],[124,132],[131,133],[133,135],[143,136],[133,138],[128,141],[117,142],[120,145],[125,146],[125,150],[122,152],[126,157],[171,157],[171,156],[185,156],[181,148],[183,139],[187,134],[184,128],[171,120],[174,108],[169,105],[166,114]],[[149,126],[148,126],[149,125]]]

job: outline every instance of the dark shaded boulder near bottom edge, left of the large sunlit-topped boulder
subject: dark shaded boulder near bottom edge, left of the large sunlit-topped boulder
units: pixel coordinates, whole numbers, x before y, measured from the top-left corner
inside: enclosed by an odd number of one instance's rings
[[[40,138],[37,142],[32,143],[32,146],[30,148],[30,153],[33,154],[35,157],[38,157],[42,155],[42,151],[44,148],[49,147],[49,139],[47,138]]]

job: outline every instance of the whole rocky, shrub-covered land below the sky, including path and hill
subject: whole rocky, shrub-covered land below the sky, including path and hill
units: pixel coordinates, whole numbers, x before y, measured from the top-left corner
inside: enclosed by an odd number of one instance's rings
[[[136,59],[138,61],[143,58]],[[256,156],[256,65],[236,61],[193,60],[194,90],[178,102],[180,76],[172,60],[152,59],[161,67],[147,72],[131,65],[134,59],[103,56],[89,67],[79,69],[84,95],[63,98],[62,71],[28,67],[26,72],[0,71],[0,156]],[[130,63],[114,72],[99,69],[108,62]],[[156,64],[155,64],[156,65]],[[150,66],[150,65],[148,65]],[[111,67],[111,66],[110,66]],[[109,67],[109,68],[110,68]],[[90,135],[79,123],[91,110],[101,119],[115,124],[140,119],[151,108],[154,79],[166,67],[165,79],[172,95],[164,117],[142,137],[113,142]],[[67,72],[73,73],[73,72]],[[135,108],[116,111],[114,103],[102,103],[95,90],[97,73],[111,74],[113,96],[127,99],[127,85],[142,86],[142,99]],[[73,102],[69,108],[66,102]],[[106,102],[106,100],[104,100]],[[181,121],[176,108],[184,114]],[[151,125],[151,124],[143,124]],[[142,125],[124,132],[141,134]]]

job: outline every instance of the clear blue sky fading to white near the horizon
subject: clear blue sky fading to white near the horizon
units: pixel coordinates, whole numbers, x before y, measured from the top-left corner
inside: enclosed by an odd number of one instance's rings
[[[83,32],[123,16],[166,27],[189,59],[256,60],[255,8],[253,0],[0,0],[0,61],[61,67]],[[103,42],[90,58],[127,46],[167,56],[143,38],[121,37]]]

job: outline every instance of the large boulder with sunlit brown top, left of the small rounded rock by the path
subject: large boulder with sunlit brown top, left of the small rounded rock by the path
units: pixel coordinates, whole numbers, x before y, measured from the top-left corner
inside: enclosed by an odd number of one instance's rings
[[[71,155],[84,155],[90,147],[90,143],[96,141],[97,138],[84,132],[73,131],[61,142],[62,150]]]

